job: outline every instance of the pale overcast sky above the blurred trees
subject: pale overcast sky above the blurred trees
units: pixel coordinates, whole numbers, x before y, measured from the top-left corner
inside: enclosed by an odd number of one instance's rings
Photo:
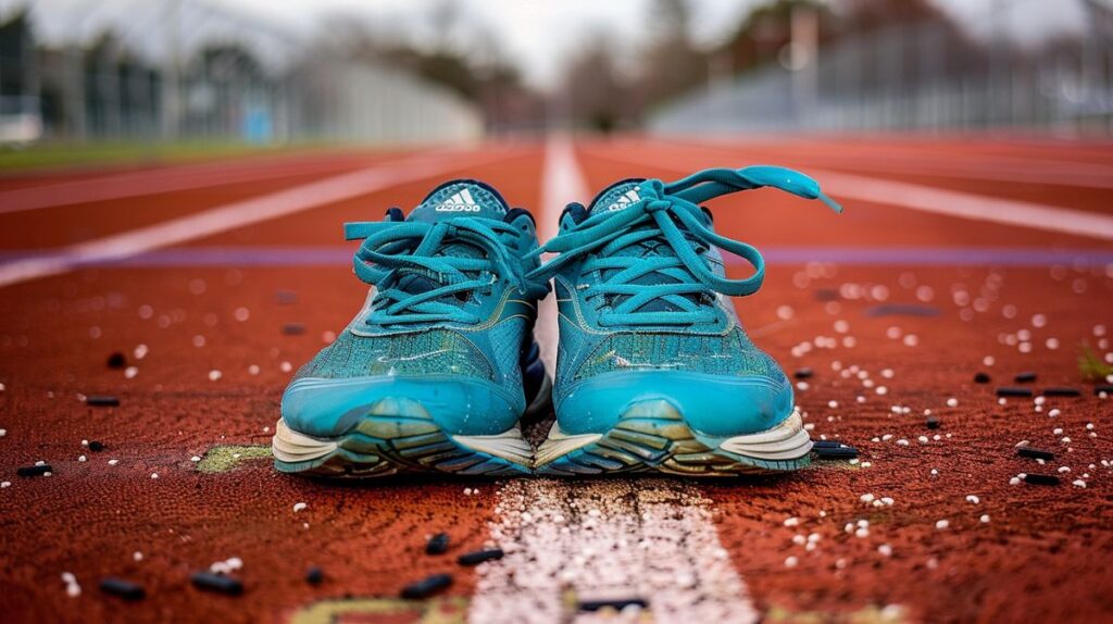
[[[131,27],[134,40],[156,47],[165,42],[157,27],[169,0],[0,0],[0,9],[32,6],[47,38],[99,33],[107,23]],[[441,0],[183,0],[223,6],[273,22],[284,29],[313,33],[327,16],[361,17],[374,24],[421,24]],[[692,34],[702,42],[721,39],[738,24],[749,7],[762,0],[689,0],[695,11]],[[934,0],[973,32],[985,32],[997,20],[1021,39],[1036,39],[1085,24],[1082,0]],[[1102,0],[1106,3],[1113,0]],[[460,0],[466,20],[498,33],[504,52],[541,87],[555,82],[568,53],[589,34],[612,33],[615,43],[633,46],[647,24],[650,0]],[[995,7],[1011,7],[1002,18]],[[148,26],[137,23],[145,21]],[[210,24],[211,20],[206,21]]]

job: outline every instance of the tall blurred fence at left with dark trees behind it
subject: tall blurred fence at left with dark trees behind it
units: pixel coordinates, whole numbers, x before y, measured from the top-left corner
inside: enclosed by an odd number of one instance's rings
[[[204,0],[6,4],[0,142],[482,133],[474,107],[442,88],[383,63],[343,61]]]

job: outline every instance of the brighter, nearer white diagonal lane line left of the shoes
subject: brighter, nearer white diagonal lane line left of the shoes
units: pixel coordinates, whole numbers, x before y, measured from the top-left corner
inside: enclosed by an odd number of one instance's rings
[[[483,159],[473,158],[467,165],[487,164],[504,158],[508,158],[505,153]],[[65,247],[49,256],[2,264],[0,288],[65,274],[85,264],[129,258],[151,249],[213,236],[460,168],[461,161],[457,158],[420,156],[226,204],[195,215]]]

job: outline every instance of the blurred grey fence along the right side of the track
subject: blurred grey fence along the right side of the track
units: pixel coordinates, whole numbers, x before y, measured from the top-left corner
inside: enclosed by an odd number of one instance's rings
[[[1040,43],[953,22],[892,26],[819,44],[659,111],[656,132],[968,130],[1113,132],[1113,11],[1078,2],[1089,27]],[[1027,4],[1027,7],[1025,7]],[[991,6],[985,23],[1032,0]],[[1047,7],[1042,9],[1046,10]],[[992,30],[992,27],[991,27]]]

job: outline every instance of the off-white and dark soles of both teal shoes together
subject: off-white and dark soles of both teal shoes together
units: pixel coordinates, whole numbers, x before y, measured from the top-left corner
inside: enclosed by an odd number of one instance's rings
[[[549,394],[546,378],[528,416],[548,409]],[[810,464],[811,439],[798,413],[766,432],[712,438],[693,432],[667,400],[647,400],[630,407],[605,434],[565,435],[554,423],[534,454],[518,426],[490,436],[453,436],[417,402],[383,399],[335,438],[311,437],[278,420],[272,450],[279,472],[339,478],[430,473],[727,477],[804,468]]]

